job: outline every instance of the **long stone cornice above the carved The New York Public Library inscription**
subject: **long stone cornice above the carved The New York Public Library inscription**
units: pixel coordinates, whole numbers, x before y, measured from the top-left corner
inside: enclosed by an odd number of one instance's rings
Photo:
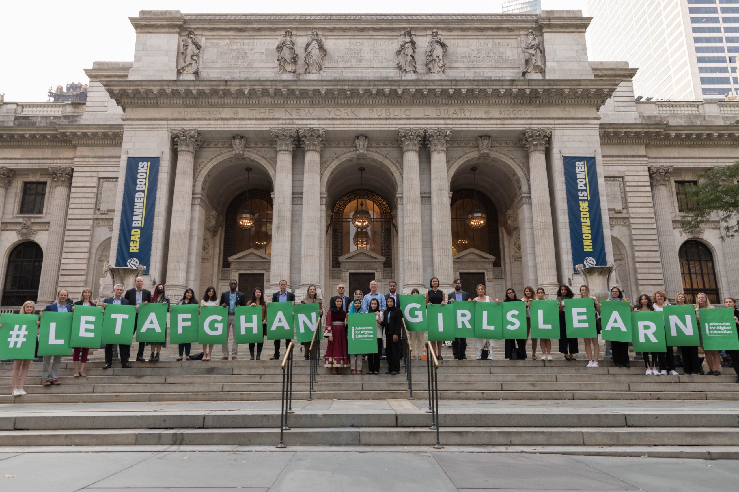
[[[621,80],[101,80],[121,108],[270,105],[525,105],[600,108]]]

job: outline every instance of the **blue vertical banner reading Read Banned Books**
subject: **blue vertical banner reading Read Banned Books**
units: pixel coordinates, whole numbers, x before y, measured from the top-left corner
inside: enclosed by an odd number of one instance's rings
[[[128,158],[115,266],[145,265],[149,274],[158,179],[159,157]]]

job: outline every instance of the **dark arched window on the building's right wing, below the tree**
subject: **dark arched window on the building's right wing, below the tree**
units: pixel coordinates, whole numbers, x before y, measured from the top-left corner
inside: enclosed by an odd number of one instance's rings
[[[695,303],[695,296],[704,292],[711,304],[720,304],[713,254],[708,246],[695,239],[687,240],[680,246],[678,258],[688,302]]]

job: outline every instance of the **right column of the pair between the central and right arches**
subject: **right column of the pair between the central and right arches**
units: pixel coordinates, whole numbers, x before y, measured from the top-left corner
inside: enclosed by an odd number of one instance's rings
[[[452,210],[449,205],[449,175],[446,172],[446,142],[451,129],[426,130],[426,145],[431,150],[431,232],[434,245],[434,275],[442,291],[452,291]]]

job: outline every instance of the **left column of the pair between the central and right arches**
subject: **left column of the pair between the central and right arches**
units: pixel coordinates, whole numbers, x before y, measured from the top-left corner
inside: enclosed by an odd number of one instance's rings
[[[403,149],[403,292],[423,291],[423,252],[421,243],[420,173],[418,148],[423,130],[401,128],[398,141]]]

